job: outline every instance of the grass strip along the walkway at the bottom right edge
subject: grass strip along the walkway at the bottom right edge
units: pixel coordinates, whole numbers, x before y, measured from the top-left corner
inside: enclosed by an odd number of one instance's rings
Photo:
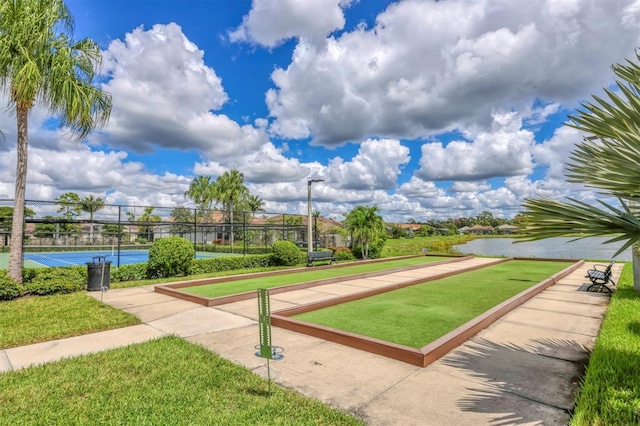
[[[611,296],[570,424],[640,424],[640,292],[631,262]]]

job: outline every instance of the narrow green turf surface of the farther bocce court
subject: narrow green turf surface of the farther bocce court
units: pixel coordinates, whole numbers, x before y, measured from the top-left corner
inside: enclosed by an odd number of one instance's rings
[[[403,266],[413,266],[420,264],[428,264],[440,260],[450,259],[447,257],[437,256],[420,256],[407,259],[389,260],[378,263],[362,263],[353,266],[345,266],[342,268],[313,269],[307,268],[302,272],[292,272],[290,274],[276,275],[271,277],[256,277],[246,280],[232,281],[228,283],[199,285],[193,287],[181,288],[192,294],[204,297],[220,297],[230,294],[244,293],[247,291],[255,291],[259,288],[280,287],[283,285],[298,284],[308,281],[316,281],[327,278],[343,277],[347,275],[362,274],[367,272],[384,271],[387,269],[401,268]]]

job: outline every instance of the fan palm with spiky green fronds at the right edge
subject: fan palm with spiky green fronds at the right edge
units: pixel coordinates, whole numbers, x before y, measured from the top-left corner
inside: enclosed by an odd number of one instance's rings
[[[640,56],[636,54],[636,60]],[[523,212],[529,225],[523,240],[565,236],[609,235],[607,242],[624,241],[615,254],[633,246],[634,285],[640,290],[640,66],[632,61],[612,67],[620,94],[605,89],[608,100],[594,96],[568,124],[587,137],[571,153],[569,182],[600,190],[605,198],[617,198],[620,207],[598,200],[601,207],[568,198],[567,201],[527,199]]]

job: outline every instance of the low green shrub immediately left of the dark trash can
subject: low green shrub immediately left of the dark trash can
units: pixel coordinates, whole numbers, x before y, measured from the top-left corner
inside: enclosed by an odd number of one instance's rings
[[[27,293],[44,296],[48,294],[73,293],[82,290],[87,276],[81,266],[37,269],[29,282],[25,281]]]

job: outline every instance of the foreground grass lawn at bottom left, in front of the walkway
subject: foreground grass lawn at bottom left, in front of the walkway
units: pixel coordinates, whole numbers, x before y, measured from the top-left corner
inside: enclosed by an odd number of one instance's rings
[[[178,337],[0,374],[6,425],[361,425]]]

